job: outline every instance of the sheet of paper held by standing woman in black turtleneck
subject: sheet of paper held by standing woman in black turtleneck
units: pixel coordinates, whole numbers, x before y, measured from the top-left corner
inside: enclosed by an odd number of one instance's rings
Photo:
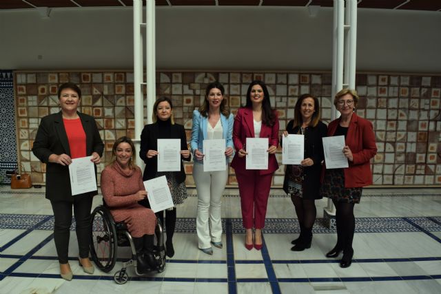
[[[181,139],[158,139],[158,171],[181,170]]]

